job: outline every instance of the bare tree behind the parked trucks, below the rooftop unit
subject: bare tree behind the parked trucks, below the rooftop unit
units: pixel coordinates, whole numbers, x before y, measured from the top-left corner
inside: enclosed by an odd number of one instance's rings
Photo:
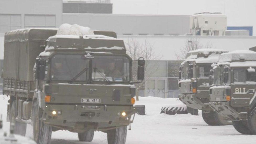
[[[197,37],[193,38],[189,36],[186,39],[185,45],[180,49],[180,54],[175,53],[177,60],[185,60],[186,54],[189,51],[197,50],[197,49],[210,49],[212,48],[212,43],[209,41],[206,45],[200,44],[200,41]]]

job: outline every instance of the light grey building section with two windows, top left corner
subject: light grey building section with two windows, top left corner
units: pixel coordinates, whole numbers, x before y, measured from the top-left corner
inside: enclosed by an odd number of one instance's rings
[[[61,22],[62,0],[0,1],[0,33],[19,28],[55,28]]]

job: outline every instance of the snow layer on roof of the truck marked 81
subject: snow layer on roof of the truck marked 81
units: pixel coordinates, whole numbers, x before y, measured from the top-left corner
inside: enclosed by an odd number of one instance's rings
[[[256,61],[256,52],[250,50],[237,50],[221,54],[219,57],[220,63],[231,61]]]

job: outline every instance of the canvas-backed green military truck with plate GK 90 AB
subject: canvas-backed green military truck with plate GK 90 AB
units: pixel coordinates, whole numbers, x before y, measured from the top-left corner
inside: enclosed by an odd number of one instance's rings
[[[109,144],[125,143],[135,116],[132,59],[114,32],[56,35],[57,29],[19,29],[4,38],[3,94],[10,97],[7,119],[25,135],[33,126],[37,143],[52,131],[78,133],[92,141],[107,133]],[[138,80],[144,78],[143,58]],[[136,80],[135,80],[136,81]]]

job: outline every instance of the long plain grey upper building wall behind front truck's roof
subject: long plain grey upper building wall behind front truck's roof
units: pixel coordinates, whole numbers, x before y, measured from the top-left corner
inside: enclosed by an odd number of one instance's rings
[[[184,35],[189,15],[63,14],[62,23],[115,31],[119,35]]]

